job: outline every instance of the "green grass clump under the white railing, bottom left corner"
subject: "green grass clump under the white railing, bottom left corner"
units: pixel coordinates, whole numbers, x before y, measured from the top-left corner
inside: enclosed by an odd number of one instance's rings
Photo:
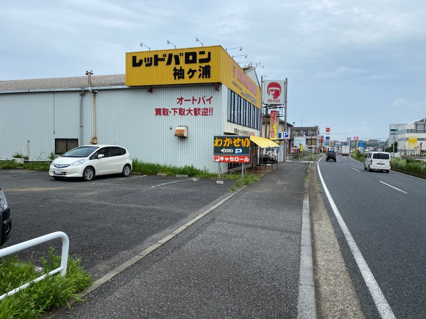
[[[35,269],[33,259],[34,256],[29,261],[12,256],[0,258],[0,295],[58,268],[61,256],[50,248],[48,255],[40,258],[41,272]],[[78,293],[91,285],[92,275],[83,269],[81,260],[75,255],[69,256],[65,276],[48,275],[0,301],[0,319],[38,318],[48,310],[68,304],[69,298],[81,300]]]

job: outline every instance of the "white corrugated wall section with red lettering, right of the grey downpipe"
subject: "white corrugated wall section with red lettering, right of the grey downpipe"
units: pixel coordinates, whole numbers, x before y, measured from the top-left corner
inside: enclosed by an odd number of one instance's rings
[[[93,122],[92,100],[84,97],[84,126],[90,141]],[[198,105],[198,98],[211,98],[211,104]],[[191,102],[177,103],[177,99]],[[197,102],[192,104],[192,98]],[[199,169],[217,171],[212,162],[213,136],[223,134],[226,118],[227,91],[214,86],[162,87],[123,90],[99,90],[97,119],[99,144],[117,144],[129,149],[139,161],[172,166],[193,165]],[[155,115],[156,108],[212,107],[213,115]],[[225,110],[225,114],[224,114]],[[174,136],[177,126],[188,126],[188,138]],[[90,127],[90,129],[88,129]],[[171,129],[170,129],[171,127]],[[90,133],[88,136],[88,132]],[[215,168],[216,167],[216,168]]]

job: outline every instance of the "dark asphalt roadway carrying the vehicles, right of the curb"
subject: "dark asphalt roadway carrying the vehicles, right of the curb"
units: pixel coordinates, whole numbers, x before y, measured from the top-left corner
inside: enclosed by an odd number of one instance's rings
[[[338,156],[336,163],[323,159],[318,168],[366,262],[360,271],[360,256],[354,257],[332,204],[324,198],[366,317],[426,317],[426,181],[365,171],[363,163],[348,156]],[[371,289],[374,280],[378,290]]]

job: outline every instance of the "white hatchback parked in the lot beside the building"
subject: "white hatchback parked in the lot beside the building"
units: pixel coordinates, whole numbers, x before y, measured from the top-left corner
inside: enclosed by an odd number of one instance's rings
[[[95,175],[129,176],[132,161],[127,149],[117,145],[85,145],[73,148],[55,158],[49,175],[55,179],[82,177],[91,181]]]

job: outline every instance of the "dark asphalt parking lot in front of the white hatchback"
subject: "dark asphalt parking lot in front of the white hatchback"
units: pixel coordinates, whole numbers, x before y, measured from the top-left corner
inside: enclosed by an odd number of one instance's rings
[[[12,217],[12,235],[2,248],[63,231],[69,254],[77,254],[96,280],[193,219],[205,205],[219,202],[233,183],[139,175],[83,182],[54,180],[47,172],[0,170]],[[60,254],[60,240],[27,253],[45,254],[49,246]]]

